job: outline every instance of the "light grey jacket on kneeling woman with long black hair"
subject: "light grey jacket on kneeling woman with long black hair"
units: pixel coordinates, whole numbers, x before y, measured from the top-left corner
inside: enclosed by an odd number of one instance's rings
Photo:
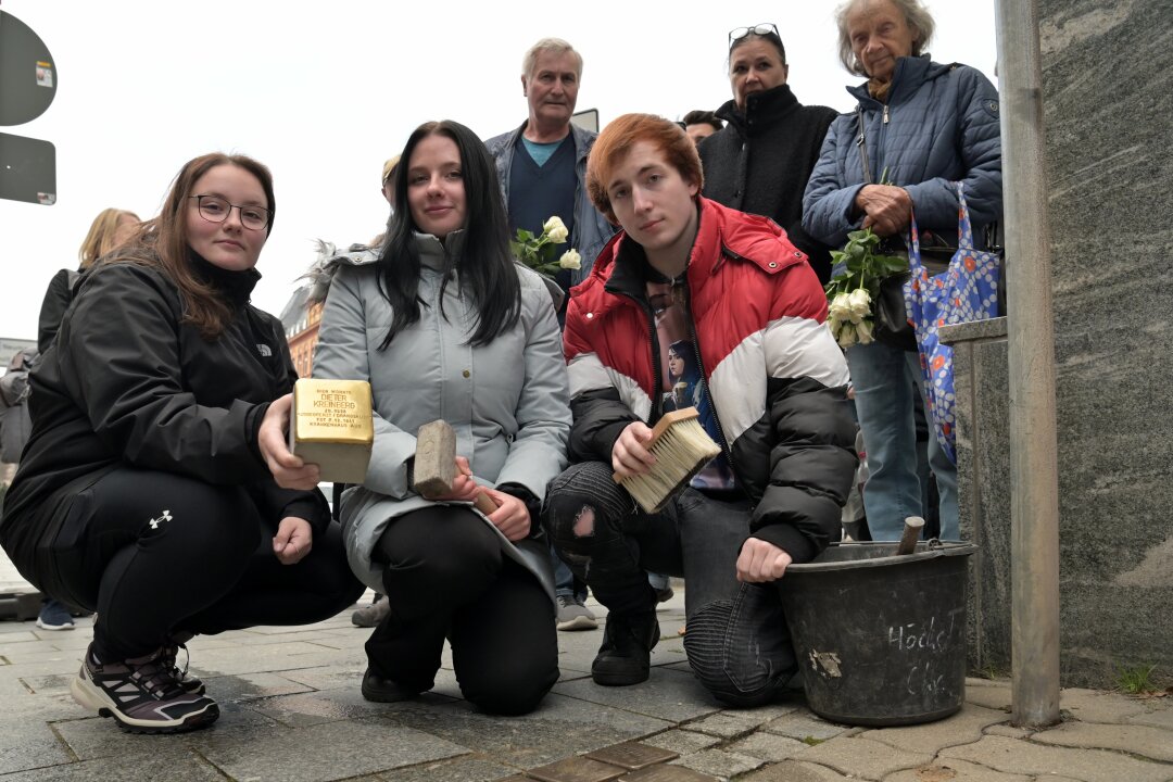
[[[443,419],[456,433],[456,453],[468,458],[477,483],[516,484],[537,499],[567,465],[570,406],[562,338],[541,278],[517,265],[521,319],[489,345],[473,347],[476,307],[460,291],[462,232],[439,239],[416,234],[421,256],[420,320],[379,351],[392,320],[379,291],[375,253],[339,264],[321,317],[314,378],[367,380],[374,404],[374,447],[362,485],[343,495],[341,522],[351,569],[382,589],[382,567],[371,552],[387,524],[434,504],[408,484],[420,426]],[[440,290],[446,252],[456,257],[453,279]],[[496,528],[493,528],[496,529]],[[535,533],[541,525],[534,524]],[[544,538],[511,544],[504,553],[529,569],[554,599],[554,574]]]

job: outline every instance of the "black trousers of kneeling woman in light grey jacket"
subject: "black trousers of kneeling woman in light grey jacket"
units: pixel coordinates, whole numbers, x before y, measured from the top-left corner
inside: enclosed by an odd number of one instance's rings
[[[394,519],[377,559],[391,613],[366,644],[375,674],[430,689],[447,638],[460,689],[481,710],[526,714],[558,680],[554,604],[470,510],[436,505]]]

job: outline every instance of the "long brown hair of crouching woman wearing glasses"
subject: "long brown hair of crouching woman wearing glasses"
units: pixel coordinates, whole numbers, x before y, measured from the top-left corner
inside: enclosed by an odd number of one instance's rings
[[[196,182],[217,165],[236,165],[260,182],[269,200],[269,227],[273,230],[277,200],[273,198],[273,175],[269,169],[245,155],[210,152],[188,161],[171,183],[158,217],[148,220],[144,230],[128,245],[111,253],[109,260],[130,260],[162,270],[179,288],[183,300],[183,322],[191,324],[205,340],[213,340],[232,317],[228,304],[215,288],[192,273],[189,261],[188,210]],[[103,259],[104,260],[104,259]]]

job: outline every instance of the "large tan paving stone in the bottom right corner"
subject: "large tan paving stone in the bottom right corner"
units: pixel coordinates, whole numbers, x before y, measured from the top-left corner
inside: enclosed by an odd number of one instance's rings
[[[1103,749],[1046,747],[1005,736],[941,752],[938,761],[958,757],[998,771],[1026,776],[1070,776],[1083,782],[1168,782],[1173,768]]]

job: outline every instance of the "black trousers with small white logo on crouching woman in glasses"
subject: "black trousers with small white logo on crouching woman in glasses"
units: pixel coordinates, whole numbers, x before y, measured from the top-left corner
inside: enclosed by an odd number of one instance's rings
[[[54,543],[70,603],[97,611],[96,653],[142,657],[171,633],[218,633],[327,619],[364,591],[331,523],[310,553],[283,565],[280,519],[240,487],[118,469],[80,492]]]

